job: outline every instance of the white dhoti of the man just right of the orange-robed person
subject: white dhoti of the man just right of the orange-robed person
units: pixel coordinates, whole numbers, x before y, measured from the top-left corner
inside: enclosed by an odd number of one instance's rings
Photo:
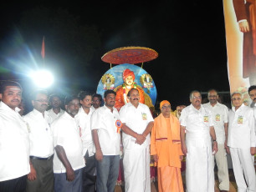
[[[214,170],[211,144],[187,144],[187,192],[214,192]],[[197,142],[196,142],[197,143]]]

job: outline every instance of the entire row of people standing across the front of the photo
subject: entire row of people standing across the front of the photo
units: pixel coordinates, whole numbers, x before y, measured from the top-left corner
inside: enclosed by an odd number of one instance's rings
[[[215,163],[218,187],[228,191],[227,153],[238,191],[256,191],[255,85],[248,88],[251,106],[235,92],[228,109],[218,102],[215,89],[202,104],[201,93],[194,90],[191,104],[175,111],[170,101],[161,101],[156,117],[140,103],[137,88],[129,90],[129,102],[120,110],[114,90],[106,90],[103,99],[80,91],[64,101],[56,93],[35,90],[33,110],[23,114],[22,93],[13,81],[4,81],[0,89],[1,192],[114,192],[120,154],[125,192],[151,191],[151,157],[159,192],[214,192]]]

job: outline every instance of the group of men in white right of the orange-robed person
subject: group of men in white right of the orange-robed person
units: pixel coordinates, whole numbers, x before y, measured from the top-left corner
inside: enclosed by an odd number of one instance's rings
[[[248,88],[248,93],[254,106],[256,86]],[[201,94],[193,91],[192,104],[182,110],[180,117],[182,151],[187,156],[187,191],[214,192],[214,158],[219,188],[228,191],[226,152],[231,154],[238,191],[255,191],[255,108],[245,106],[243,94],[238,92],[231,95],[233,107],[229,111],[218,103],[216,90],[208,92],[208,100],[209,103],[201,104]]]

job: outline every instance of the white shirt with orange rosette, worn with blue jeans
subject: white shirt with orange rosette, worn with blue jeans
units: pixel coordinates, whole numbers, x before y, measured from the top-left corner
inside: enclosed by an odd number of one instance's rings
[[[116,123],[120,120],[118,111],[113,113],[105,105],[96,109],[91,116],[91,129],[98,129],[100,148],[104,155],[120,154],[120,131]]]

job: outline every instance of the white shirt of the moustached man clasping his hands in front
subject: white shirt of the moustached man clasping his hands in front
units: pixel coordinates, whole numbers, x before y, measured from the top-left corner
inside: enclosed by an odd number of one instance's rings
[[[131,103],[125,104],[121,107],[120,120],[137,134],[143,134],[146,126],[150,122],[154,122],[150,109],[146,104],[141,103],[139,103],[137,108]],[[129,134],[123,133],[122,136],[125,149],[144,148],[151,144],[150,134],[146,136],[145,142],[141,145],[136,144],[136,139]]]

